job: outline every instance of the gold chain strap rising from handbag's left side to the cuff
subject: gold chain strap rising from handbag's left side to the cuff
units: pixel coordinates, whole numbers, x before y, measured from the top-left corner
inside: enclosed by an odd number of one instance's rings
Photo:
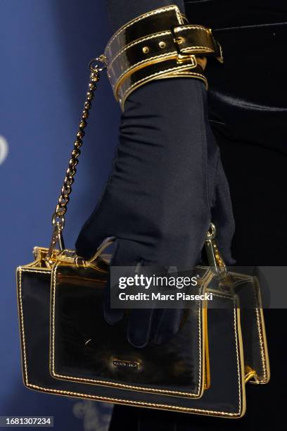
[[[49,251],[47,253],[47,261],[51,260],[53,254],[53,249],[56,244],[60,250],[65,249],[63,242],[63,229],[65,226],[65,213],[67,212],[67,205],[70,201],[70,193],[72,192],[72,183],[74,182],[75,173],[77,172],[77,164],[79,163],[79,154],[81,154],[80,147],[83,144],[82,138],[84,137],[84,128],[87,126],[87,118],[89,117],[89,110],[91,108],[91,101],[94,99],[94,92],[96,90],[96,82],[100,79],[100,73],[102,70],[106,69],[106,65],[99,67],[98,62],[105,63],[105,57],[99,56],[93,58],[89,63],[89,89],[87,92],[87,99],[84,102],[84,110],[82,111],[82,116],[79,121],[79,129],[77,131],[77,139],[74,142],[74,148],[69,160],[68,169],[65,173],[65,179],[63,181],[63,186],[60,191],[60,196],[58,198],[58,204],[52,216],[53,224],[53,235],[51,239],[51,244],[49,246]]]

